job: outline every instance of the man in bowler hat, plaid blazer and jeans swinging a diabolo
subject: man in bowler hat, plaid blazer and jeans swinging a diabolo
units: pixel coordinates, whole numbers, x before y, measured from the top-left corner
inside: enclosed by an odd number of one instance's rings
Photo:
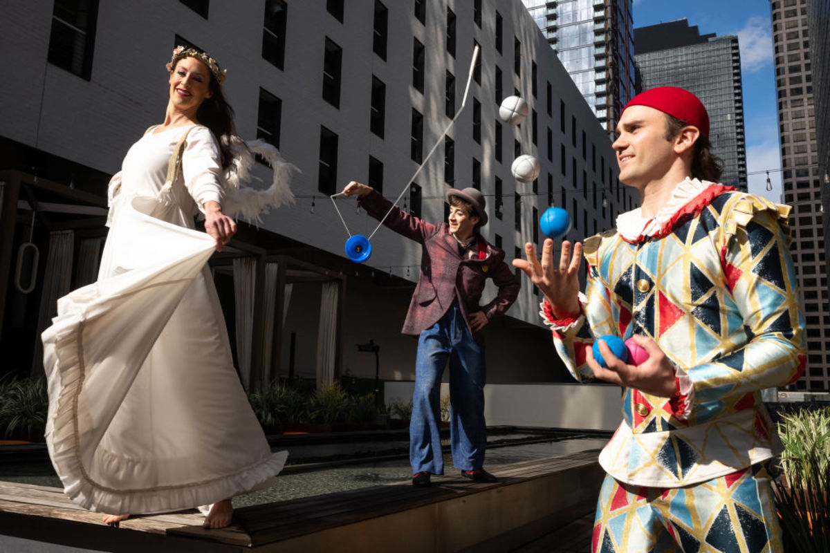
[[[439,400],[447,359],[452,463],[465,478],[496,482],[496,477],[483,466],[487,434],[481,330],[510,308],[519,295],[519,282],[505,263],[505,252],[488,244],[479,234],[481,226],[487,224],[484,196],[476,188],[451,188],[447,191],[447,224],[433,225],[398,209],[359,182],[349,182],[343,194],[358,196],[360,206],[370,216],[423,247],[421,274],[403,323],[404,334],[418,337],[409,424],[413,485],[428,486],[431,474],[444,473]],[[487,279],[493,279],[499,292],[481,306]]]

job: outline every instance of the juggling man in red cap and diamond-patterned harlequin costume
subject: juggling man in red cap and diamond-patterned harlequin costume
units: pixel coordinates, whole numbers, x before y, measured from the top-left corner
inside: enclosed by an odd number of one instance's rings
[[[599,456],[607,476],[593,551],[782,551],[766,464],[779,451],[760,390],[805,365],[788,206],[715,184],[709,117],[661,87],[623,109],[619,179],[641,207],[584,245],[517,260],[545,294],[542,316],[578,381],[623,386],[623,422]],[[579,264],[588,262],[579,293]],[[623,363],[594,339],[634,337]]]

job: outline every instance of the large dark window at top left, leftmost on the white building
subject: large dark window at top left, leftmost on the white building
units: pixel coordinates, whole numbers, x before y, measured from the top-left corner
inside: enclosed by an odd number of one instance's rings
[[[97,20],[98,0],[55,0],[49,63],[90,80]]]

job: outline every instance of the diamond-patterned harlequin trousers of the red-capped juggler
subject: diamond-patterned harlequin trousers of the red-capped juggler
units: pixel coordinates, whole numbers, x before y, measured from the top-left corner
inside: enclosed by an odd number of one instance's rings
[[[780,553],[764,463],[686,488],[643,488],[606,475],[593,553]]]

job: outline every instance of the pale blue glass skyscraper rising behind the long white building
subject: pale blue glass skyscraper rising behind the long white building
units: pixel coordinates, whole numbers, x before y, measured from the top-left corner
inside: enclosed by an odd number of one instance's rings
[[[634,95],[632,0],[522,0],[600,123]]]

